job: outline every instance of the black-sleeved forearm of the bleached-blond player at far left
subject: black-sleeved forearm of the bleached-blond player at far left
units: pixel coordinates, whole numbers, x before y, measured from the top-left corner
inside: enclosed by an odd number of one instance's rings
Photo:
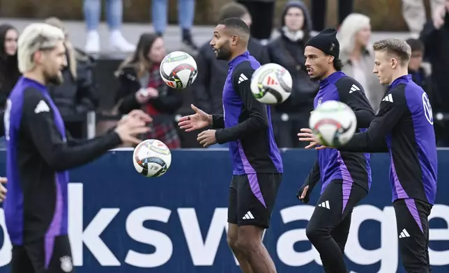
[[[66,171],[91,162],[107,150],[116,148],[121,139],[116,132],[108,132],[102,137],[83,141],[82,144],[68,146],[66,144],[48,150],[43,154],[47,164],[56,171]]]

